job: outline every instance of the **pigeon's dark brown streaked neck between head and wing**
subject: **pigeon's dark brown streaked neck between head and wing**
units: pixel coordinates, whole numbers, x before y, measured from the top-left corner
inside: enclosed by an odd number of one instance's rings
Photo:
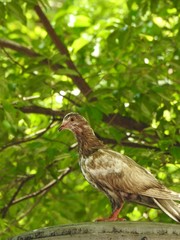
[[[76,138],[78,141],[79,155],[83,157],[90,156],[104,146],[103,142],[96,137],[90,127],[86,127],[81,133],[76,134]]]

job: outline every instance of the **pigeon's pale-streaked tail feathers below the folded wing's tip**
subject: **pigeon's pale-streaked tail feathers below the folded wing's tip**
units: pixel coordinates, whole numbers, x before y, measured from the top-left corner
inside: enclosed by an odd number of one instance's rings
[[[180,207],[176,202],[169,199],[153,198],[158,207],[165,212],[170,218],[180,223]]]

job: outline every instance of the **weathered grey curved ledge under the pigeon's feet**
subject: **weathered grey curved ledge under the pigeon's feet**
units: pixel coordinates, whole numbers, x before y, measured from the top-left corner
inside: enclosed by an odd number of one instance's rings
[[[48,227],[11,240],[179,240],[180,225],[147,222],[97,222]]]

